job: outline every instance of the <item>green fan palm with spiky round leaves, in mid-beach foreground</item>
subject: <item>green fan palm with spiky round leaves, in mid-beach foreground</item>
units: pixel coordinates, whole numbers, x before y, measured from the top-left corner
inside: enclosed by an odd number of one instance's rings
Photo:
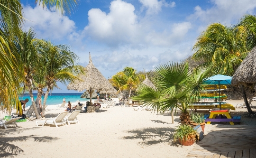
[[[182,124],[189,124],[188,105],[200,97],[203,79],[207,77],[209,68],[189,70],[188,63],[170,63],[156,68],[154,81],[157,89],[147,85],[138,88],[138,94],[132,97],[143,100],[145,106],[163,114],[170,108],[181,110]]]

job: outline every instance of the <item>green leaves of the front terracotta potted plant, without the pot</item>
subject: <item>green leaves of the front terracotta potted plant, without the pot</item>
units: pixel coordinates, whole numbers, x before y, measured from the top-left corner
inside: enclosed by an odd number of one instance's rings
[[[193,127],[187,124],[181,124],[173,134],[173,141],[178,141],[178,139],[182,140],[183,138],[185,141],[187,141],[189,136],[191,136],[195,141],[197,138],[197,135],[198,134],[196,130],[193,129]]]

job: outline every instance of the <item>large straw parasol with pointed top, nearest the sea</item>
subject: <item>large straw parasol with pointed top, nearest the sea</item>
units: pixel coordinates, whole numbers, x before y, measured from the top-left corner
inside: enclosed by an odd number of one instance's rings
[[[90,94],[90,103],[92,103],[92,94],[95,90],[110,90],[112,85],[107,79],[95,68],[92,58],[89,53],[89,64],[85,67],[85,75],[80,75],[79,78],[83,81],[76,80],[68,85],[68,90],[87,90]]]

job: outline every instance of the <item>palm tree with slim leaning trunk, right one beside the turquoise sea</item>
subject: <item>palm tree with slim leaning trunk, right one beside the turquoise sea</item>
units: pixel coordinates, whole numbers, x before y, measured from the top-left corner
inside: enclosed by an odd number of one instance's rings
[[[57,82],[67,85],[68,82],[75,81],[79,73],[84,73],[84,68],[75,65],[78,57],[67,45],[53,45],[51,41],[45,40],[37,40],[34,44],[40,54],[41,75],[47,88],[42,109],[42,117],[44,117],[47,97],[49,92],[57,87]]]

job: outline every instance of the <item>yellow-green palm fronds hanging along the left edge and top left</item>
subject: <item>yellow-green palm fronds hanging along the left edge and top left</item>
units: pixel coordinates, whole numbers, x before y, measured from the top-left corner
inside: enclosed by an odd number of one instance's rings
[[[38,2],[36,0],[35,2]],[[43,7],[56,6],[64,14],[77,5],[76,0],[39,0]],[[19,36],[23,23],[22,5],[19,0],[0,2],[0,104],[11,112],[11,105],[21,106],[17,91],[23,82],[24,70],[20,54],[15,50],[13,40]]]

